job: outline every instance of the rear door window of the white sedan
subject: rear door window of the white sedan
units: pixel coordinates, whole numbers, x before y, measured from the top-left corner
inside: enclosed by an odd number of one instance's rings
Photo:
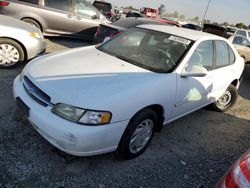
[[[229,65],[228,45],[224,41],[215,41],[216,48],[216,67]]]

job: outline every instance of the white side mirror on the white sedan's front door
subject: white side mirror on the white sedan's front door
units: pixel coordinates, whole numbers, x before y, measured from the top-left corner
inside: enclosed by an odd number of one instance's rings
[[[181,73],[182,78],[186,77],[204,77],[207,75],[207,69],[201,65],[187,66]]]

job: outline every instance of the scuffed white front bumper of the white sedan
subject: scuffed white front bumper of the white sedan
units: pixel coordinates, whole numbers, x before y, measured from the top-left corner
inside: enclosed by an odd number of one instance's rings
[[[20,76],[13,86],[15,99],[19,97],[29,107],[29,122],[52,145],[76,156],[90,156],[116,150],[127,121],[101,126],[76,124],[51,112],[34,101],[25,91]]]

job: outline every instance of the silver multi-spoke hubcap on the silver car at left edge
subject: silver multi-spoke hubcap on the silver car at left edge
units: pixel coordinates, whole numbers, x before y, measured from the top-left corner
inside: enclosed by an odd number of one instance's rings
[[[0,65],[10,66],[19,61],[18,50],[10,44],[0,45]]]

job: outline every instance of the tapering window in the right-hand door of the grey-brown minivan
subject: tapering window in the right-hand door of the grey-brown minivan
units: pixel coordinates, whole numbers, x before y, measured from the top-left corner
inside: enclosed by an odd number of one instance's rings
[[[96,10],[92,6],[81,0],[76,1],[76,11],[78,15],[89,18],[97,15]]]

